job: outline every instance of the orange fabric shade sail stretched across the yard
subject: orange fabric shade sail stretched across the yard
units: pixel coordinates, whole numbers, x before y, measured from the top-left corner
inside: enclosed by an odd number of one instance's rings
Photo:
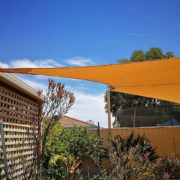
[[[11,68],[0,72],[94,81],[110,85],[117,92],[180,103],[180,58],[88,67]]]

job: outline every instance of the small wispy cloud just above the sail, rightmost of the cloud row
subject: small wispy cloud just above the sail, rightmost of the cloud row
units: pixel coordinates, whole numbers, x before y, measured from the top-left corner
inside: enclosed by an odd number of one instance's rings
[[[73,57],[65,60],[65,63],[71,66],[89,66],[96,63],[91,58]]]

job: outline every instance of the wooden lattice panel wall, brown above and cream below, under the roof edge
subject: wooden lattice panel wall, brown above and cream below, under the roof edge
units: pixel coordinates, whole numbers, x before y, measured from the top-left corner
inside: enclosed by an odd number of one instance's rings
[[[40,103],[0,82],[0,118],[4,127],[10,179],[25,179],[29,173],[25,169],[34,160],[34,135],[39,132]],[[0,152],[3,159],[2,143]],[[4,175],[3,161],[0,169],[1,175]]]

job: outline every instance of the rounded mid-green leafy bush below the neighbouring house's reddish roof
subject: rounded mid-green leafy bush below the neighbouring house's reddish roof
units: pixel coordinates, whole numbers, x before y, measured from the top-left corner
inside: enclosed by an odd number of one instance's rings
[[[89,132],[85,127],[74,126],[66,131],[68,138],[67,149],[76,159],[90,158],[99,166],[101,158],[106,156],[106,149],[103,148],[103,141],[100,137]]]

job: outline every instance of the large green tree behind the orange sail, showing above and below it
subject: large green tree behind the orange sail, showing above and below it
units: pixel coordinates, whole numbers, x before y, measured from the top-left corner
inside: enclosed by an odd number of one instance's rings
[[[143,52],[142,50],[134,51],[130,57],[130,59],[120,59],[118,63],[127,63],[131,61],[145,61],[145,60],[153,60],[153,59],[161,59],[163,57],[171,58],[174,57],[173,52],[166,52],[165,54],[160,48],[150,48],[147,52]],[[107,94],[105,93],[105,109],[107,112]],[[161,101],[153,98],[146,98],[142,96],[130,95],[125,93],[113,92],[110,94],[111,98],[111,113],[112,116],[115,117],[114,125],[120,126],[119,123],[119,115],[118,111],[120,109],[128,109],[138,106],[144,106],[149,108],[154,107],[168,107],[166,110],[168,112],[173,112],[174,107],[172,107],[173,103],[169,103],[166,101]]]

